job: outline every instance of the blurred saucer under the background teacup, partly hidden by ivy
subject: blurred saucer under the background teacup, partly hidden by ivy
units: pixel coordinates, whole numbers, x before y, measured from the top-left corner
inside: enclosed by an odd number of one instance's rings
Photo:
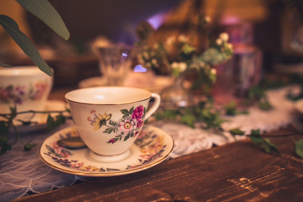
[[[45,111],[63,111],[65,110],[65,107],[68,107],[67,103],[61,100],[47,100]],[[56,116],[58,114],[59,113],[50,113],[51,116]],[[68,115],[68,112],[65,115]],[[47,124],[46,124],[47,117],[48,114],[36,114],[32,119],[33,123],[29,125],[22,125],[21,122],[15,120],[14,120],[14,124],[19,133],[34,132],[47,128]],[[12,127],[9,128],[9,132],[14,133],[14,129]]]

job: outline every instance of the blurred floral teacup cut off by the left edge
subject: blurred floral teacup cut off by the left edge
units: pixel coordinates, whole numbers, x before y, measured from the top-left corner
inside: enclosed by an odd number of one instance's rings
[[[37,66],[0,68],[0,113],[10,113],[10,107],[17,112],[45,110],[46,101],[52,89],[53,77]],[[32,114],[18,115],[18,119],[29,119]]]

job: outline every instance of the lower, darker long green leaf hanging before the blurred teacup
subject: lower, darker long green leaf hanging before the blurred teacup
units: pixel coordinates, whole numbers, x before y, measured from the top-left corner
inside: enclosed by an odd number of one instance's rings
[[[53,73],[51,68],[42,59],[39,51],[34,44],[32,44],[31,40],[19,30],[18,24],[6,15],[0,15],[0,24],[39,69],[52,77]]]

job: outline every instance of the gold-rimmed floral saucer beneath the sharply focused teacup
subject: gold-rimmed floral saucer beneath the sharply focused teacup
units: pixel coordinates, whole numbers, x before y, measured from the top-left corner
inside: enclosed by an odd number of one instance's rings
[[[151,168],[164,161],[174,148],[170,135],[155,126],[142,129],[130,148],[130,155],[118,162],[99,162],[89,155],[89,148],[67,149],[57,141],[78,136],[74,126],[62,129],[42,143],[39,155],[44,163],[70,174],[102,177],[131,174]]]

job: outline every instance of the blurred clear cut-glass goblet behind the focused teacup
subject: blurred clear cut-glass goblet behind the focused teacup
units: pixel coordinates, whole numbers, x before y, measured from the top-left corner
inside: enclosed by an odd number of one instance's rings
[[[97,56],[100,72],[109,86],[121,86],[132,65],[131,46],[112,44],[98,47]]]

